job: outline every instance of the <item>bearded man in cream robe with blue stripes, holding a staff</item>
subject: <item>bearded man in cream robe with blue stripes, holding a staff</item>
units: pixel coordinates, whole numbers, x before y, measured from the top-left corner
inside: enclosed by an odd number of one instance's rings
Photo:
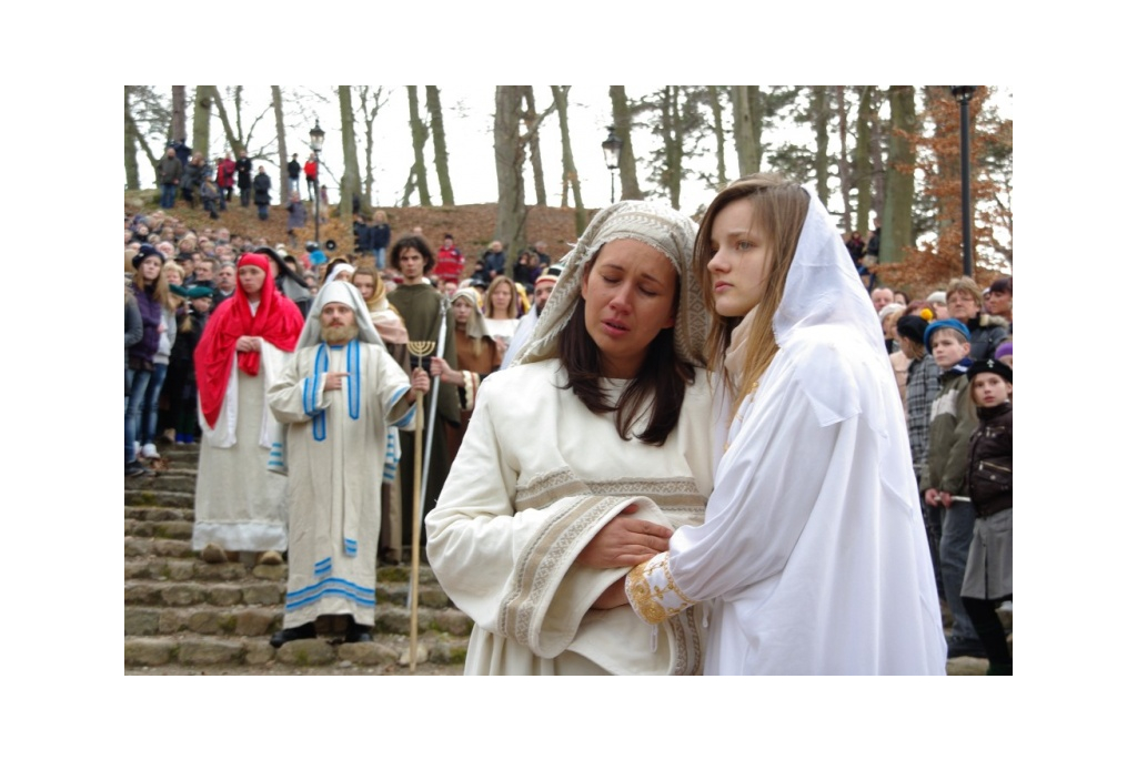
[[[268,391],[288,426],[289,578],[282,646],[316,635],[319,616],[351,617],[347,641],[371,641],[382,513],[387,426],[414,423],[414,390],[391,359],[367,304],[351,284],[332,281],[316,297],[296,353]]]

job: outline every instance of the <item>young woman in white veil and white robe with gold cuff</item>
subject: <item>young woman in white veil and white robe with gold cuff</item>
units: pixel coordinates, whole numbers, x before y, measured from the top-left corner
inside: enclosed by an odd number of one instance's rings
[[[629,574],[632,607],[656,625],[714,600],[707,674],[944,674],[904,412],[829,214],[753,175],[695,257],[721,460],[705,523]]]

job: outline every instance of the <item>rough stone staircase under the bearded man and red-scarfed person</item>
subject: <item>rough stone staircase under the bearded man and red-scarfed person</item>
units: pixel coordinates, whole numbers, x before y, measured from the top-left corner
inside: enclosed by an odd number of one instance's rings
[[[288,566],[210,565],[190,549],[198,446],[166,445],[153,476],[125,481],[127,675],[409,675],[409,566],[376,569],[374,641],[343,643],[345,619],[279,650]],[[460,675],[472,623],[423,565],[416,675]]]

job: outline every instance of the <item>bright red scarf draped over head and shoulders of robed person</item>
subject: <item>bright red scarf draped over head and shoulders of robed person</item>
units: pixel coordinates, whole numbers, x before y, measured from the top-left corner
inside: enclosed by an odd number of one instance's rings
[[[217,424],[225,389],[233,369],[233,348],[243,335],[252,335],[268,341],[281,351],[292,351],[304,328],[304,317],[292,301],[276,292],[268,257],[246,253],[236,267],[255,266],[264,269],[265,284],[260,289],[260,304],[254,316],[249,297],[238,284],[231,298],[225,299],[210,315],[205,333],[193,350],[193,366],[201,399],[201,415],[209,427]],[[252,377],[260,371],[260,352],[241,351],[236,354],[236,366]]]

